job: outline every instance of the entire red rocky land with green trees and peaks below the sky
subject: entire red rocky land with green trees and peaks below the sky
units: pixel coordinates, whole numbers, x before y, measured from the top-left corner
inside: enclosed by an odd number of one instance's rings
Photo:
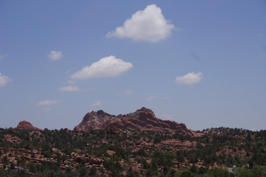
[[[21,121],[0,128],[0,176],[266,176],[265,140],[266,130],[193,132],[144,107],[90,112],[74,130]]]

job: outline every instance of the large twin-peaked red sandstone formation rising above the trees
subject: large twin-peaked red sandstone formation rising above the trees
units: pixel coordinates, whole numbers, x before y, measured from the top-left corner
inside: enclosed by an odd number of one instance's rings
[[[153,111],[145,107],[138,109],[136,112],[124,115],[119,114],[118,116],[107,114],[102,110],[87,113],[82,122],[77,126],[77,130],[102,129],[105,127],[138,128],[141,131],[180,133],[191,137],[202,136],[202,134],[188,129],[184,123],[179,124],[155,117]]]

